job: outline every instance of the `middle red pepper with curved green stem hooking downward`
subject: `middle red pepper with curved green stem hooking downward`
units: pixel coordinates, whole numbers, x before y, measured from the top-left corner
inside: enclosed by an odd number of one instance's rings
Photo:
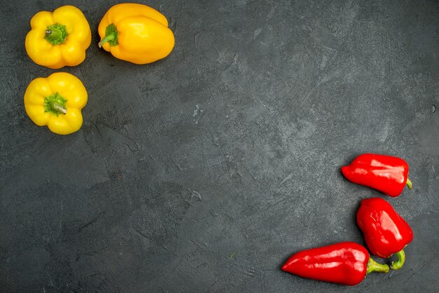
[[[390,203],[382,198],[363,200],[357,212],[357,223],[372,254],[383,258],[396,254],[399,259],[391,268],[397,270],[403,266],[403,249],[412,242],[413,231]]]

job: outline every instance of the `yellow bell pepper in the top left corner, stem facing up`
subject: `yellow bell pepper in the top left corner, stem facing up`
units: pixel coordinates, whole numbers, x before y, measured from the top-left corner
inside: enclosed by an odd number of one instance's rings
[[[61,6],[53,11],[40,11],[30,20],[27,55],[36,63],[51,69],[75,66],[86,58],[91,43],[90,25],[74,6]]]

